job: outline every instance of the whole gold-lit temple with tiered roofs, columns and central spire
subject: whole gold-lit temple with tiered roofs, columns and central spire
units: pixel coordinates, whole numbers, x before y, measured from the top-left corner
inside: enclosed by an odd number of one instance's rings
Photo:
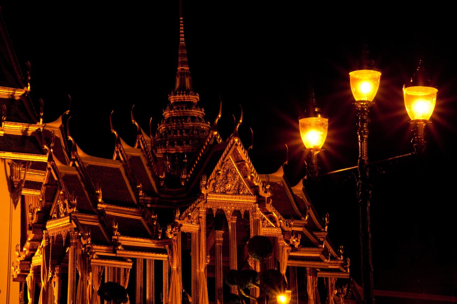
[[[132,108],[133,146],[111,124],[112,159],[80,149],[69,111],[43,123],[0,19],[0,303],[99,304],[105,282],[125,287],[130,303],[223,303],[238,293],[224,273],[260,271],[247,252],[256,235],[271,240],[266,267],[285,277],[290,303],[340,301],[335,281],[350,277],[350,263],[327,237],[328,215],[282,167],[255,170],[238,134],[242,113],[228,138],[218,132],[222,102],[215,119],[205,117],[182,12],[163,119],[145,132]]]

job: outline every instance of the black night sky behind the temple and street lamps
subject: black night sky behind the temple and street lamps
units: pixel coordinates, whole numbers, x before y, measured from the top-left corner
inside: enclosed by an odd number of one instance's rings
[[[402,86],[423,55],[432,86],[439,90],[433,123],[426,129],[428,153],[424,160],[399,160],[383,168],[386,173],[373,182],[375,289],[456,296],[457,48],[454,33],[444,30],[454,27],[452,19],[443,16],[439,21],[424,11],[404,14],[401,8],[395,8],[396,13],[363,16],[354,11],[342,16],[324,7],[276,5],[184,1],[192,81],[207,119],[216,117],[221,94],[219,126],[227,137],[233,130],[232,114],[238,119],[241,104],[240,134],[249,146],[249,128],[254,131],[250,156],[255,168],[260,173],[276,171],[286,159],[287,144],[286,172],[294,185],[305,172],[298,117],[314,88],[330,118],[321,172],[356,165],[357,118],[348,72],[367,41],[383,73],[370,113],[370,159],[409,153]],[[151,116],[157,126],[174,87],[178,1],[159,6],[17,3],[2,5],[1,11],[22,72],[27,60],[32,64],[31,94],[35,101],[44,99],[45,122],[68,109],[70,94],[71,134],[87,154],[112,157],[112,109],[114,127],[129,144],[135,138],[133,104],[144,130],[149,130]],[[309,192],[320,216],[329,212],[329,237],[344,245],[359,281],[355,182],[324,178]],[[415,303],[377,299],[388,302]]]

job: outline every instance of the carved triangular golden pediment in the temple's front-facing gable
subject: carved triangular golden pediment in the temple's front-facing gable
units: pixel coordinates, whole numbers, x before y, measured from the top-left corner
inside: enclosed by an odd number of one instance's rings
[[[230,157],[223,161],[210,193],[252,195]]]

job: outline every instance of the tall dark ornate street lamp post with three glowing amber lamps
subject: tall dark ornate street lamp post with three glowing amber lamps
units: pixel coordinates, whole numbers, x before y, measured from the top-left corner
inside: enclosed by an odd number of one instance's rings
[[[355,98],[358,123],[359,155],[357,162],[357,200],[359,203],[360,221],[360,248],[361,248],[361,283],[362,302],[374,304],[373,288],[373,263],[372,243],[370,227],[370,200],[372,185],[370,183],[370,163],[368,161],[368,114],[373,99],[379,88],[381,72],[374,66],[374,61],[369,59],[369,52],[365,47],[362,53],[359,69],[349,73],[351,91]],[[404,85],[404,104],[411,118],[414,137],[411,140],[414,146],[414,154],[420,155],[425,149],[424,129],[429,122],[435,108],[436,88],[429,87],[430,78],[426,76],[423,61],[419,63],[414,76],[408,86]],[[321,151],[327,135],[328,119],[322,116],[317,108],[314,93],[309,103],[307,117],[300,119],[300,135],[305,145],[305,151],[309,154],[308,176],[314,179],[318,176],[317,154]],[[410,155],[410,154],[408,154]],[[403,155],[404,156],[404,155]],[[398,158],[398,157],[395,157]],[[348,168],[351,169],[351,168]],[[346,169],[343,169],[346,170]],[[340,171],[340,170],[339,170]]]

